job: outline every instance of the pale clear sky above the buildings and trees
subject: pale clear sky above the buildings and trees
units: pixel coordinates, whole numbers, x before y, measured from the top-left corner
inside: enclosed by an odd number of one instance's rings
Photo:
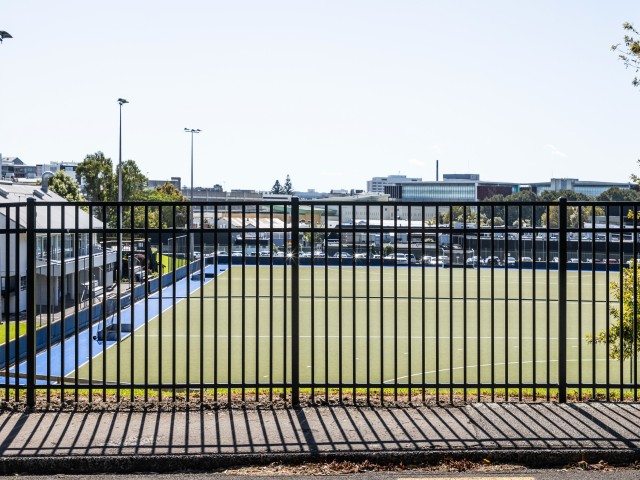
[[[0,152],[101,150],[152,179],[267,190],[479,173],[628,181],[640,1],[4,0]]]

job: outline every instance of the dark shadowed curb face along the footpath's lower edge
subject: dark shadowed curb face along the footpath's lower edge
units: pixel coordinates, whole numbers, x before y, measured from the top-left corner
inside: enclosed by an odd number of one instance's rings
[[[629,465],[640,461],[640,449],[496,449],[437,450],[396,452],[339,453],[260,453],[202,455],[122,455],[122,456],[47,456],[4,457],[0,459],[0,475],[16,474],[132,474],[140,472],[169,473],[180,471],[212,472],[240,466],[264,466],[271,463],[297,465],[304,462],[369,461],[376,464],[436,465],[447,460],[521,465],[549,468],[578,462]]]

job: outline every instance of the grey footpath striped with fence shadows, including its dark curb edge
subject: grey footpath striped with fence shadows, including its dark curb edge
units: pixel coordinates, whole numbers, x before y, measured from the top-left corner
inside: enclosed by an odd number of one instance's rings
[[[451,459],[530,468],[633,464],[640,461],[640,404],[0,413],[4,475]]]

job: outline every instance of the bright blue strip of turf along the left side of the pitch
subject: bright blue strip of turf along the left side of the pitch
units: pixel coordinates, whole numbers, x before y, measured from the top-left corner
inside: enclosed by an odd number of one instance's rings
[[[187,288],[190,287],[192,296],[205,283],[211,281],[216,274],[224,272],[228,265],[218,265],[217,273],[214,265],[207,265],[202,272],[199,270],[191,274],[191,279],[187,277],[178,280],[175,285],[171,284],[147,297],[139,300],[133,305],[120,311],[120,340],[124,340],[131,332],[145,325],[148,320],[158,316],[161,311],[165,311],[174,305],[174,299],[180,300],[187,297]],[[201,276],[202,278],[201,280]],[[146,311],[145,311],[146,309]],[[118,315],[114,314],[106,322],[106,343],[103,342],[105,329],[102,322],[95,323],[91,328],[82,330],[77,335],[73,335],[64,341],[52,345],[47,351],[43,351],[36,356],[36,377],[37,383],[46,384],[46,377],[52,379],[52,383],[66,375],[73,373],[76,368],[89,361],[90,356],[96,356],[117,342],[118,339]],[[76,361],[77,351],[77,361]],[[27,362],[19,365],[19,383],[26,384]],[[11,370],[15,374],[15,369]],[[10,377],[10,382],[15,384],[15,376]]]

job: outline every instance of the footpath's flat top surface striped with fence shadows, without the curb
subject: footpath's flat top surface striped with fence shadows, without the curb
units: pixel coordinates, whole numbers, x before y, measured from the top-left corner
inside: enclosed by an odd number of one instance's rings
[[[0,457],[640,451],[640,404],[0,414]]]

